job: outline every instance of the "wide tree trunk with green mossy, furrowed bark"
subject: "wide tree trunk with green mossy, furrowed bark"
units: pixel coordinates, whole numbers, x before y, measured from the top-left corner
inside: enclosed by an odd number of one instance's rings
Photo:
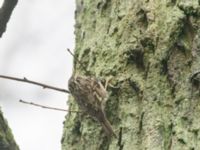
[[[118,139],[69,114],[63,150],[200,149],[199,3],[76,0],[75,55],[90,74],[112,77],[106,114]],[[69,105],[78,109],[72,97]]]

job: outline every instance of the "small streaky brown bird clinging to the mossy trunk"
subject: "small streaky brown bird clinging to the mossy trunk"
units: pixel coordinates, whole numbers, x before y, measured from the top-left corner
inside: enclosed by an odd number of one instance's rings
[[[108,93],[102,83],[92,77],[72,76],[68,87],[80,109],[97,119],[108,136],[117,137],[104,111]]]

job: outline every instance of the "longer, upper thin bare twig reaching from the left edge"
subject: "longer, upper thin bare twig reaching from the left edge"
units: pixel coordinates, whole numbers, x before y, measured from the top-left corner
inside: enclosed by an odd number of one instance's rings
[[[11,77],[11,76],[0,75],[0,78],[15,80],[15,81],[19,81],[19,82],[25,82],[25,83],[29,83],[29,84],[34,84],[34,85],[37,85],[37,86],[41,86],[44,89],[51,89],[51,90],[55,90],[55,91],[59,91],[59,92],[70,93],[66,89],[62,89],[62,88],[54,87],[54,86],[51,86],[51,85],[39,83],[39,82],[36,82],[36,81],[28,80],[25,77],[23,79],[21,79],[21,78],[16,78],[16,77]]]

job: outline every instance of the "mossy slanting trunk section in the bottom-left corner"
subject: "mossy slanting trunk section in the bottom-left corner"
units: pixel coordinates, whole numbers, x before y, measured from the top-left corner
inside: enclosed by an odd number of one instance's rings
[[[19,150],[15,143],[12,132],[8,127],[7,121],[0,111],[0,150]]]

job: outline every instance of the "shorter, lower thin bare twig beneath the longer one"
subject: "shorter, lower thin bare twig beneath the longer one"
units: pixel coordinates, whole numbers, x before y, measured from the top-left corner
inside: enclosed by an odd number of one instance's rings
[[[40,104],[36,104],[36,103],[33,103],[33,102],[27,102],[27,101],[24,101],[24,100],[21,100],[21,99],[19,100],[19,102],[23,103],[23,104],[28,104],[28,105],[32,105],[32,106],[36,106],[36,107],[45,108],[45,109],[51,109],[51,110],[57,110],[57,111],[65,111],[65,112],[81,113],[80,111],[67,110],[67,109],[61,109],[61,108],[55,108],[55,107],[40,105]]]

